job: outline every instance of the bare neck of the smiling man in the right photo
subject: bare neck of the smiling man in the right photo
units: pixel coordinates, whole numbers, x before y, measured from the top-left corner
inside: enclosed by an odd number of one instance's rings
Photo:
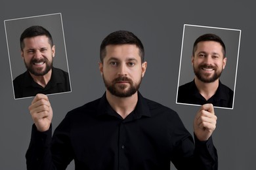
[[[205,100],[208,100],[217,91],[217,88],[219,87],[219,78],[214,82],[205,83],[195,77],[195,84],[199,93],[205,98]]]

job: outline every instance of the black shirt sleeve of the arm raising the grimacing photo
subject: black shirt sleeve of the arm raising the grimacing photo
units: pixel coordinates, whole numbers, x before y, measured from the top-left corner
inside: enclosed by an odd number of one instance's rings
[[[73,159],[67,118],[56,128],[53,137],[52,126],[48,131],[39,132],[33,124],[26,152],[28,170],[64,170]]]

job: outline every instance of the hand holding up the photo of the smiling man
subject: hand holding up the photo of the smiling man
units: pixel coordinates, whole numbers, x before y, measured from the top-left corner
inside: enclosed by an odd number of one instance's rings
[[[194,133],[200,141],[207,141],[215,130],[217,116],[213,105],[205,104],[200,107],[194,119]]]

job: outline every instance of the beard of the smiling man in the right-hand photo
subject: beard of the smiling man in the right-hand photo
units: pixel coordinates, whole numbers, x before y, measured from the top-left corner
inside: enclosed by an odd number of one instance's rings
[[[221,73],[223,71],[223,70],[217,71],[217,67],[215,67],[213,65],[207,65],[207,64],[198,65],[198,69],[196,69],[195,66],[193,65],[193,68],[194,68],[194,73],[195,73],[196,77],[205,83],[215,82],[215,80],[217,80],[221,76]],[[204,75],[205,73],[201,73],[202,68],[214,69],[213,75],[211,77],[205,76]]]

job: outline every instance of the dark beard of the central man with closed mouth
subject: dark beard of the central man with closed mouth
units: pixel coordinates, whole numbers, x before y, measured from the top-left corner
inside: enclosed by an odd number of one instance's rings
[[[115,78],[112,82],[108,82],[103,76],[104,84],[107,88],[107,90],[112,93],[112,95],[116,95],[117,97],[131,97],[131,95],[135,94],[139,88],[142,78],[140,78],[138,83],[133,83],[133,80],[131,78],[127,78],[127,76],[119,76]],[[128,82],[128,84],[118,84],[118,82],[125,81]],[[129,88],[125,90],[127,87]]]

